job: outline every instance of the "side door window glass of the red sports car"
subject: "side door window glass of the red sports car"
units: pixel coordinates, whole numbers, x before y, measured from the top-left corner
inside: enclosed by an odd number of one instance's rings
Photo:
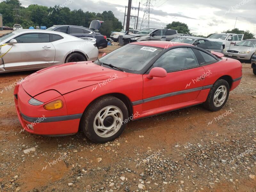
[[[195,53],[191,48],[176,48],[162,55],[153,67],[164,68],[167,72],[199,66]]]

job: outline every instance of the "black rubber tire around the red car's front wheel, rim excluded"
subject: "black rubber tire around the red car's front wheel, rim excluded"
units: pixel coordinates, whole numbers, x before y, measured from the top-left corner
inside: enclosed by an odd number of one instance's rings
[[[82,116],[82,118],[84,118],[84,121],[82,121],[82,128],[86,137],[92,142],[105,143],[114,140],[122,134],[127,125],[127,123],[124,122],[118,132],[116,132],[116,134],[112,135],[111,137],[104,138],[97,135],[93,128],[94,119],[101,109],[108,106],[118,107],[123,113],[123,121],[128,119],[128,110],[121,100],[115,97],[106,97],[94,102]]]

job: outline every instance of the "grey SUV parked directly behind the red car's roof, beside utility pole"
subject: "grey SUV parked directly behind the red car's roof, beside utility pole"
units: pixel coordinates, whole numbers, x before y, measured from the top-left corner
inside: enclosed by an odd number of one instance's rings
[[[124,35],[124,45],[137,41],[171,41],[180,36],[176,30],[162,28],[145,28],[134,35]]]

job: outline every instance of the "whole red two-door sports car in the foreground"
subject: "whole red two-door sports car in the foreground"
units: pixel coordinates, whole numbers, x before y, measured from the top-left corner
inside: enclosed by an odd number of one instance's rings
[[[65,63],[26,77],[14,90],[22,127],[104,143],[134,119],[197,104],[220,110],[242,78],[223,54],[174,42],[127,44],[100,59]]]

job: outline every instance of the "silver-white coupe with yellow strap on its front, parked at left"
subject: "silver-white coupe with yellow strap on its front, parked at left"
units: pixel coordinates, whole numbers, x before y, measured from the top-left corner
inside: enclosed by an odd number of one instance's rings
[[[4,56],[0,60],[0,73],[96,60],[99,53],[95,40],[84,41],[68,34],[41,29],[7,33],[0,37],[0,45],[4,44],[8,45],[1,46],[1,55]]]

